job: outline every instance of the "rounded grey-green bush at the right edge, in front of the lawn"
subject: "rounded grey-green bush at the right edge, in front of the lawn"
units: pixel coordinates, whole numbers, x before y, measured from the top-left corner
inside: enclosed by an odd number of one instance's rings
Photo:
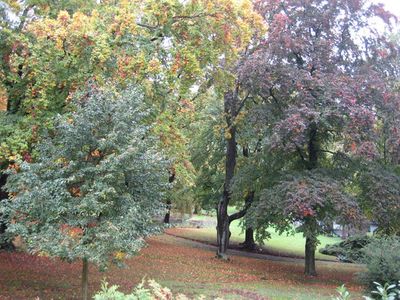
[[[400,239],[384,237],[372,239],[364,248],[367,271],[360,274],[361,281],[369,288],[374,282],[396,284],[400,280]]]

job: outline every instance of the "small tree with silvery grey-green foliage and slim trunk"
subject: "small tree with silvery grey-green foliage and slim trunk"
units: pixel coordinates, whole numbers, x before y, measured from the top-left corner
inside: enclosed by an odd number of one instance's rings
[[[88,263],[105,267],[139,251],[164,211],[166,161],[143,102],[133,87],[119,96],[90,90],[6,185],[6,234],[20,235],[31,253],[81,259],[84,299]]]

